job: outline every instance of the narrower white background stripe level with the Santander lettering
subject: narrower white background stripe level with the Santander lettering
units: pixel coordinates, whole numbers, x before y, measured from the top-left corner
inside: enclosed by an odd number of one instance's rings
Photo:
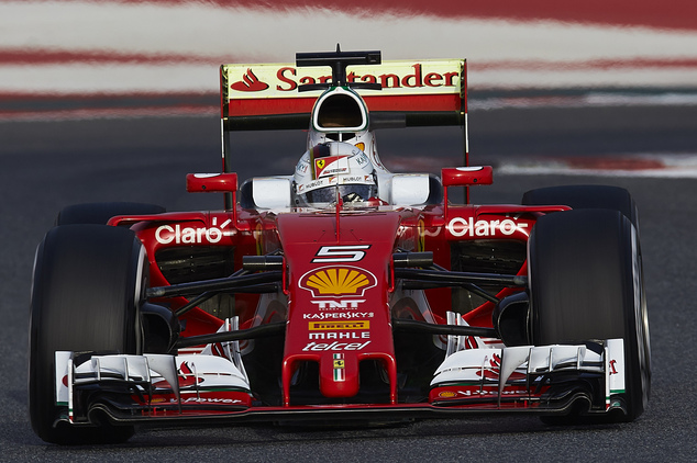
[[[697,84],[694,69],[638,68],[621,71],[471,71],[469,89],[491,88],[679,88]],[[42,92],[48,94],[204,92],[219,90],[217,65],[35,65],[1,66],[0,92]]]

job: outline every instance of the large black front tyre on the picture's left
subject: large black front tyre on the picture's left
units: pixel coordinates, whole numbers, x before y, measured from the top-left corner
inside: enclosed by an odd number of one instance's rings
[[[59,421],[54,352],[141,351],[139,307],[146,287],[145,251],[125,228],[66,225],[51,229],[34,263],[30,320],[29,411],[46,442],[114,443],[132,427]]]

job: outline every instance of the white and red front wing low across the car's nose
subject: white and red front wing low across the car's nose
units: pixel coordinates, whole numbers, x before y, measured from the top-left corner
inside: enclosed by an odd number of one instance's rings
[[[623,408],[621,339],[597,345],[458,350],[443,361],[427,402],[267,406],[240,358],[206,354],[92,355],[56,352],[57,420],[90,426],[186,421],[312,421],[439,418],[476,413],[565,415]],[[100,414],[100,415],[96,415]]]

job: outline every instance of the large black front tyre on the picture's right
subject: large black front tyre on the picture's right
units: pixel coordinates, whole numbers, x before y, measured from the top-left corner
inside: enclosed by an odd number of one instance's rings
[[[535,346],[624,340],[626,414],[582,420],[639,417],[650,396],[651,347],[637,228],[618,211],[549,214],[532,230],[528,263]]]

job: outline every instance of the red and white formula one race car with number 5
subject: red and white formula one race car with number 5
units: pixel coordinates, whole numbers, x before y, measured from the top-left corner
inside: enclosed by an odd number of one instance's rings
[[[118,442],[147,424],[640,416],[651,373],[634,202],[576,185],[468,204],[493,174],[467,167],[465,65],[338,47],[222,66],[223,173],[189,174],[187,190],[223,193],[223,210],[80,204],[38,246],[35,432]],[[462,126],[465,167],[388,171],[375,129],[396,125]],[[232,132],[308,127],[292,174],[237,185]]]

